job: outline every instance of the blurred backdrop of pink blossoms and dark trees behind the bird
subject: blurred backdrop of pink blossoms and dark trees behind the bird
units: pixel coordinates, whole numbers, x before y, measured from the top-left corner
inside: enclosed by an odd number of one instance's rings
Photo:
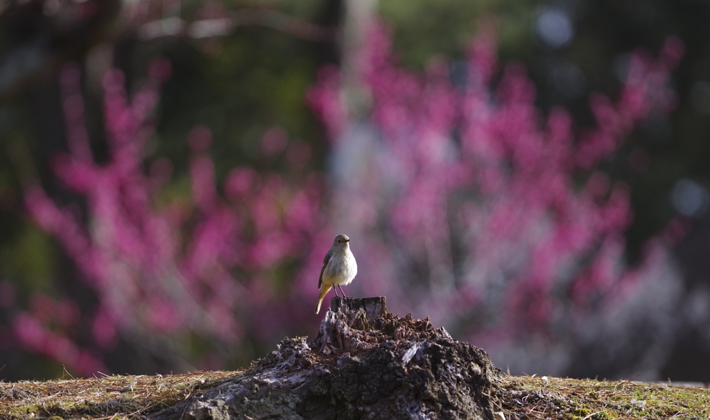
[[[511,374],[710,382],[709,18],[0,0],[0,379],[249,366],[346,233]]]

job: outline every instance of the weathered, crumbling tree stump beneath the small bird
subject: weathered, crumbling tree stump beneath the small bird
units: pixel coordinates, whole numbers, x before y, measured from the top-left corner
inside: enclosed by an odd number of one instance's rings
[[[484,350],[384,298],[333,298],[318,337],[278,350],[154,419],[493,419],[499,370]]]

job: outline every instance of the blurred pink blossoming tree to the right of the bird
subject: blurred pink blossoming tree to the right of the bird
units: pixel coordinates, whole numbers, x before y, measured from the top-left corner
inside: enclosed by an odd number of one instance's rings
[[[569,281],[572,296],[603,296],[630,278],[620,239],[632,218],[628,188],[611,188],[595,168],[635,124],[670,109],[666,81],[680,48],[670,41],[660,60],[634,55],[618,99],[591,97],[596,127],[581,131],[566,110],[545,117],[535,108],[535,87],[520,64],[504,66],[491,89],[499,67],[492,33],[474,41],[468,80],[457,89],[440,60],[426,75],[398,68],[388,30],[376,28],[361,53],[359,80],[372,98],[371,131],[381,139],[352,136],[356,122],[332,117],[348,115],[328,108],[341,102],[324,100],[339,97],[332,70],[310,97],[321,99],[312,104],[332,142],[379,148],[364,154],[357,166],[367,171],[346,174],[335,186],[346,193],[333,198],[356,196],[340,217],[363,247],[386,245],[376,257],[376,270],[388,276],[376,282],[378,291],[444,324],[477,311],[508,313],[503,325],[515,335],[548,328],[553,314],[582,311],[559,294]],[[367,218],[364,208],[373,211]],[[317,258],[309,261],[307,270],[315,270]],[[469,306],[454,307],[464,301]]]

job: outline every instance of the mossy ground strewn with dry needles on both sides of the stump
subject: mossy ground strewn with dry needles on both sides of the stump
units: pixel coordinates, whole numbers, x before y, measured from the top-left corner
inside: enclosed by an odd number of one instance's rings
[[[0,382],[0,419],[141,419],[244,372]],[[710,419],[710,389],[630,381],[503,377],[510,419]]]

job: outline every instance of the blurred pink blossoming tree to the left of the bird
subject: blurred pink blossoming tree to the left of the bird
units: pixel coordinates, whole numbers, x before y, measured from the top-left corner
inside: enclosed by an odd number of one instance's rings
[[[26,208],[58,239],[99,298],[96,311],[82,313],[91,320],[92,343],[82,349],[72,342],[77,317],[58,326],[32,308],[15,317],[12,331],[26,350],[78,375],[107,372],[102,353],[119,335],[157,356],[171,352],[175,369],[223,366],[245,330],[258,329],[250,325],[258,323],[256,308],[274,300],[278,266],[300,257],[310,232],[322,224],[322,182],[302,171],[310,149],[288,145],[280,129],[265,134],[263,154],[283,152],[290,173],[235,168],[220,194],[208,154],[212,134],[195,127],[187,136],[192,193],[166,199],[172,163],[158,159],[146,173],[143,146],[153,135],[151,113],[169,73],[168,62],[156,61],[145,85],[130,97],[121,72],[104,77],[110,160],[100,164],[92,157],[83,120],[80,70],[62,72],[69,152],[55,158],[53,170],[86,200],[88,222],[38,186],[26,192]],[[210,343],[212,350],[192,354],[195,340]]]

